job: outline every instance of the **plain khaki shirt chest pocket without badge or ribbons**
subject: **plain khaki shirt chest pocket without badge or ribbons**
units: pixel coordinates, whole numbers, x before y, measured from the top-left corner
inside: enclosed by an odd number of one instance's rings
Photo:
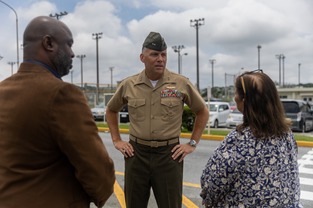
[[[128,99],[128,114],[133,121],[144,121],[146,112],[146,98]]]

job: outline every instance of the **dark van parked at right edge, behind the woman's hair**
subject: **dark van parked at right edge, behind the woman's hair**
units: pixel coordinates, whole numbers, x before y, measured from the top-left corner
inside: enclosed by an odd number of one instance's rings
[[[310,104],[303,100],[281,99],[284,105],[286,118],[291,119],[291,130],[313,130],[313,112]]]

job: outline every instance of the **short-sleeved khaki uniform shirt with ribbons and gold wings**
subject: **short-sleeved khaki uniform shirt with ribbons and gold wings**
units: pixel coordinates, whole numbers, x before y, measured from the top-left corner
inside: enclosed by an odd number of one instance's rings
[[[119,112],[127,103],[129,132],[145,140],[178,137],[181,134],[184,103],[193,112],[205,106],[204,99],[190,80],[168,69],[164,70],[163,76],[154,88],[145,70],[126,78],[117,88],[107,107]]]

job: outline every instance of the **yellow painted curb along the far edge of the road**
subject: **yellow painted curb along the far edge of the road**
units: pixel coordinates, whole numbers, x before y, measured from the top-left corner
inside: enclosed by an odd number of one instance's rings
[[[98,127],[98,130],[101,132],[110,132],[110,129],[105,128],[105,127]],[[129,133],[129,129],[120,128],[120,132],[121,133]],[[181,133],[180,137],[190,138],[191,133]],[[201,138],[202,139],[212,139],[212,140],[220,140],[221,141],[221,140],[223,140],[223,138],[225,138],[225,136],[202,134]],[[296,141],[296,142],[297,142],[297,145],[299,147],[312,147],[313,148],[313,142],[306,142],[306,141]]]

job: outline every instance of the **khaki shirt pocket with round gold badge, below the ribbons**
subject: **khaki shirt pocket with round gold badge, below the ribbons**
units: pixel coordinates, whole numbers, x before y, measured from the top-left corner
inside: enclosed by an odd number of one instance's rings
[[[176,121],[182,119],[182,100],[180,97],[161,97],[162,121]]]

